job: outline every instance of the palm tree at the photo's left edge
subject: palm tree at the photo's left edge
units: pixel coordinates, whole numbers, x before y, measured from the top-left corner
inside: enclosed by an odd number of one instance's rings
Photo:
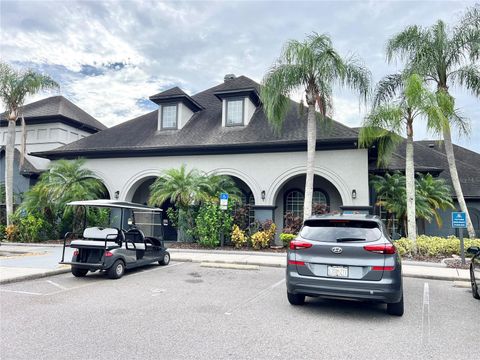
[[[19,117],[22,118],[22,131],[25,131],[25,121],[21,114],[21,107],[27,95],[34,95],[40,90],[56,87],[58,87],[58,84],[47,75],[38,74],[33,70],[16,71],[8,64],[0,63],[0,99],[6,106],[8,119],[7,144],[5,147],[7,224],[10,224],[9,217],[13,214],[13,153],[15,151],[15,126]]]

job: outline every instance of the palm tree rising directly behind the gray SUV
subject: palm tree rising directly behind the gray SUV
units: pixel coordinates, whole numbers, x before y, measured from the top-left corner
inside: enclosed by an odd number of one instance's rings
[[[265,75],[260,91],[265,114],[276,131],[281,129],[290,109],[288,95],[299,89],[305,91],[308,115],[304,218],[312,213],[316,119],[327,121],[336,83],[357,90],[366,99],[370,72],[358,60],[340,57],[328,35],[313,33],[303,42],[290,40],[285,44],[280,58]]]

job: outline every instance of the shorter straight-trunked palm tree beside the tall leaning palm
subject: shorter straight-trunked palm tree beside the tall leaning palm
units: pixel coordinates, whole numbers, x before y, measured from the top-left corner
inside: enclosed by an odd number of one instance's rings
[[[392,91],[391,84],[395,84]],[[401,94],[396,96],[396,92]],[[448,103],[447,103],[448,104]],[[378,139],[378,163],[385,165],[395,145],[406,135],[405,175],[407,197],[407,233],[416,239],[415,168],[413,159],[413,123],[418,117],[427,119],[427,128],[437,130],[446,121],[435,94],[428,91],[422,78],[413,74],[390,75],[382,79],[374,94],[373,109],[360,130],[361,146],[371,146]]]

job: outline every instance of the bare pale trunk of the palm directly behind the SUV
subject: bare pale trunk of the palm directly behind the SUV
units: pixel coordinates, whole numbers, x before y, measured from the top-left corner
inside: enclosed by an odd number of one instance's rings
[[[313,177],[315,166],[315,145],[317,141],[317,119],[315,105],[308,105],[307,119],[307,179],[305,181],[305,202],[303,203],[303,218],[312,215]]]

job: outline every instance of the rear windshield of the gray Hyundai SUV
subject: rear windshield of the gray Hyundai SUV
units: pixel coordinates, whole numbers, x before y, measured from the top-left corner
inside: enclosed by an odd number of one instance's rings
[[[330,242],[375,241],[382,232],[374,221],[307,220],[300,236],[307,240]]]

